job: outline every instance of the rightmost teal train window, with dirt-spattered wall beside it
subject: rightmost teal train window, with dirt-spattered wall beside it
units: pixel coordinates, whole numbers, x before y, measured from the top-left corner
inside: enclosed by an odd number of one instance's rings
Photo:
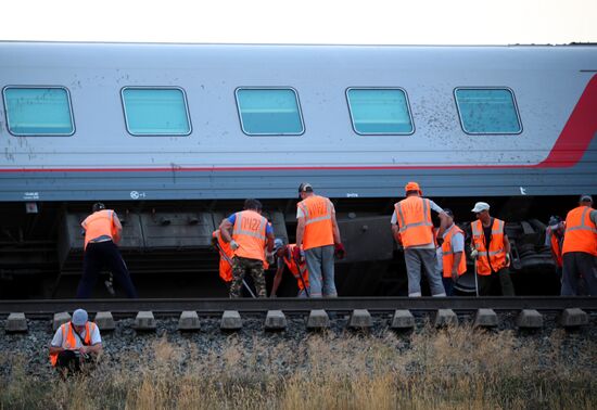
[[[454,90],[462,130],[472,134],[520,133],[522,124],[513,92],[508,88]]]

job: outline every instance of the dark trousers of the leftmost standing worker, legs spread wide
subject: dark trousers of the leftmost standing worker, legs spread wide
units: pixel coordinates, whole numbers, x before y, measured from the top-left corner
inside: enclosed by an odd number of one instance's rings
[[[98,242],[87,244],[85,257],[82,260],[82,278],[77,289],[77,298],[87,298],[91,296],[96,282],[102,268],[106,267],[125,290],[128,297],[138,297],[137,290],[132,284],[130,274],[126,267],[120,252],[114,242]]]

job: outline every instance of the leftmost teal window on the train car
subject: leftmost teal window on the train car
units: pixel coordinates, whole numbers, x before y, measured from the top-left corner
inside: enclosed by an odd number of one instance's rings
[[[9,132],[17,137],[75,133],[71,95],[64,87],[4,87]]]

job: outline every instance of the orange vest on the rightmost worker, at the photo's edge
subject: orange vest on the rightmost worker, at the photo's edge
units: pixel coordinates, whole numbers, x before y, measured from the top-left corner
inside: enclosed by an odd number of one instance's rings
[[[562,254],[584,252],[597,256],[597,227],[590,219],[589,206],[579,206],[566,217]]]

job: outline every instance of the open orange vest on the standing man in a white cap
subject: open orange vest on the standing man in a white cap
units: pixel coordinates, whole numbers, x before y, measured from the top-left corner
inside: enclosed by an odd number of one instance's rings
[[[471,222],[472,243],[477,252],[477,273],[481,276],[492,274],[492,269],[497,272],[508,266],[506,262],[506,251],[504,249],[504,221],[494,218],[492,226],[492,240],[490,249],[485,248],[485,233],[480,220]],[[491,266],[490,266],[491,265]]]

